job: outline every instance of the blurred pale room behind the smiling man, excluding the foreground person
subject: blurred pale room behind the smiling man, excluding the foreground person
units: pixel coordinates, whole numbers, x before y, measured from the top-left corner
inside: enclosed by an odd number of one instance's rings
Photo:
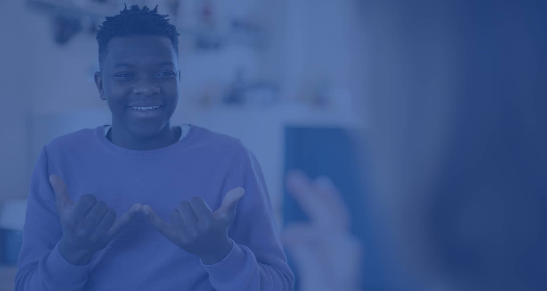
[[[365,124],[350,84],[358,77],[352,73],[359,53],[354,1],[2,1],[0,290],[13,290],[40,149],[56,136],[110,124],[93,78],[95,33],[124,2],[159,4],[159,13],[170,15],[181,33],[182,73],[172,123],[241,139],[263,169],[280,228],[305,219],[284,186],[290,169],[327,175],[341,192],[357,192],[350,132]],[[355,205],[358,197],[346,198]],[[385,281],[376,269],[370,268],[369,286]]]

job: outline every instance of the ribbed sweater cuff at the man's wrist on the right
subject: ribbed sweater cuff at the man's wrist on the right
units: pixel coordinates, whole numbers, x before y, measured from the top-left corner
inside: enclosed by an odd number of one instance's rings
[[[232,284],[241,282],[241,280],[245,281],[252,275],[254,256],[249,255],[242,247],[232,241],[232,249],[224,260],[214,265],[205,265],[203,262],[201,265],[209,273],[211,283]]]

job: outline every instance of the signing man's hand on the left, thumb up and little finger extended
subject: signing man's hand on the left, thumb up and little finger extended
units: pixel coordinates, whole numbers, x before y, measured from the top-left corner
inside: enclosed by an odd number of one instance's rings
[[[60,176],[51,175],[49,183],[55,192],[57,213],[63,229],[59,250],[72,265],[89,264],[93,254],[106,247],[142,210],[142,205],[137,203],[116,220],[116,212],[91,194],[82,196],[76,203],[72,202]]]

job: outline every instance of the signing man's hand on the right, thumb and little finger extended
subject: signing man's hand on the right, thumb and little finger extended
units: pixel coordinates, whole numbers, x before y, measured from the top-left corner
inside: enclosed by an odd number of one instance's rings
[[[245,190],[241,187],[226,193],[216,212],[200,197],[183,201],[171,213],[171,224],[159,218],[152,207],[144,206],[144,213],[165,237],[190,254],[198,256],[203,264],[222,261],[232,249],[228,229],[236,215],[237,202]]]

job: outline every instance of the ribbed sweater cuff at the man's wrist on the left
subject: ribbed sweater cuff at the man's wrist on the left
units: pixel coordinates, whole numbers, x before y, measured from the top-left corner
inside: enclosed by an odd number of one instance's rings
[[[51,251],[46,261],[49,276],[65,286],[85,284],[88,279],[88,267],[89,265],[75,266],[68,263],[59,250],[59,244]]]

